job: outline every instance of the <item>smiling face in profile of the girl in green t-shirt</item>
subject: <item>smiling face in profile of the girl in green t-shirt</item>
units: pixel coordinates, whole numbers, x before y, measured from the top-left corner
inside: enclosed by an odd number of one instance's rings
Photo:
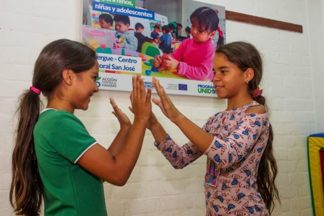
[[[74,109],[87,110],[90,103],[90,97],[99,91],[97,85],[99,65],[95,65],[87,71],[75,74],[73,82],[73,95],[71,104]]]

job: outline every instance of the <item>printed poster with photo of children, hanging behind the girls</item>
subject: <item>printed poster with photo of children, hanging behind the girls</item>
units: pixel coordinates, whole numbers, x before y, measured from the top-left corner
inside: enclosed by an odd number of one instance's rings
[[[212,9],[219,24],[206,22],[205,11],[191,23],[190,15],[200,7]],[[212,57],[225,38],[221,6],[192,0],[83,0],[82,42],[96,50],[101,90],[130,92],[132,76],[140,73],[152,92],[154,76],[168,94],[217,97]]]

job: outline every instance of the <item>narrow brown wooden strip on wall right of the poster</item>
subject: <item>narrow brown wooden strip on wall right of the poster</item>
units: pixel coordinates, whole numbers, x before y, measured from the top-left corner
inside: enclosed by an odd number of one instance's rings
[[[225,17],[228,20],[234,20],[238,22],[245,22],[254,25],[262,25],[270,28],[278,28],[288,31],[295,31],[299,33],[303,33],[303,26],[297,25],[288,22],[281,22],[277,20],[266,19],[262,17],[251,16],[247,14],[241,14],[233,11],[225,11]]]

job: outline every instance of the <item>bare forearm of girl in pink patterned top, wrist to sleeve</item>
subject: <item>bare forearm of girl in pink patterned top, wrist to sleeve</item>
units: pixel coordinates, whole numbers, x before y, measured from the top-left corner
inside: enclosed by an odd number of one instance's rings
[[[205,152],[214,140],[214,136],[205,132],[195,123],[190,121],[182,114],[174,122],[183,132],[183,134],[193,143],[201,152]]]

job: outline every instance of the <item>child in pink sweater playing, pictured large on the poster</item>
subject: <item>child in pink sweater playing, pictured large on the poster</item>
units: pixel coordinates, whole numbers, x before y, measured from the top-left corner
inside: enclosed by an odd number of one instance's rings
[[[170,69],[176,69],[177,75],[194,80],[213,80],[214,37],[219,24],[217,13],[210,8],[201,7],[190,15],[192,38],[185,39],[179,48],[164,60],[154,57],[154,67],[162,63]]]

